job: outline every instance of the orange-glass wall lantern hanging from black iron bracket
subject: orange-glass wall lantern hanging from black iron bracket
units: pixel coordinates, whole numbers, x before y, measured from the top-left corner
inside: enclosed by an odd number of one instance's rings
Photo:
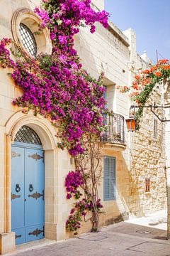
[[[166,118],[161,118],[159,117],[159,115],[155,112],[156,109],[167,109],[170,108],[170,106],[156,106],[155,104],[149,105],[149,106],[135,106],[135,105],[131,105],[130,106],[130,114],[129,114],[129,118],[125,119],[125,122],[127,124],[127,128],[128,128],[128,132],[135,132],[135,128],[136,128],[136,119],[135,119],[135,109],[136,108],[149,108],[150,111],[157,117],[157,119],[159,119],[160,122],[170,122],[170,119],[166,119]]]

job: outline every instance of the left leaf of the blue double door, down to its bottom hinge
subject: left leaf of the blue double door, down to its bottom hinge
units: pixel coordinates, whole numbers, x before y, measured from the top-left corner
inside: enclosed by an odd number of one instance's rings
[[[24,227],[24,149],[12,146],[11,159],[11,224]]]

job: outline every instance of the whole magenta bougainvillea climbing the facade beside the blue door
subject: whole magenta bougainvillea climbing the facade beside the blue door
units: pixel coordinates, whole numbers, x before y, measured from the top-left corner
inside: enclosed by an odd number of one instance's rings
[[[108,13],[94,11],[91,8],[91,0],[42,0],[40,8],[35,8],[35,13],[42,20],[40,31],[49,28],[52,54],[40,54],[34,59],[16,46],[19,54],[15,55],[14,62],[6,49],[11,40],[4,38],[0,43],[0,66],[11,68],[11,78],[23,91],[21,97],[13,100],[13,105],[21,107],[23,112],[33,110],[35,114],[50,119],[57,127],[57,136],[60,137],[58,146],[67,149],[69,154],[79,159],[79,155],[85,157],[88,151],[86,145],[89,142],[85,138],[90,138],[89,134],[98,138],[101,134],[106,100],[103,96],[103,74],[96,80],[82,69],[77,50],[74,49],[74,35],[79,33],[80,26],[89,26],[91,33],[94,33],[96,21],[107,28]],[[96,141],[94,140],[94,144]],[[77,186],[88,186],[86,181],[83,184],[83,180],[79,184],[76,181],[72,183],[71,176],[75,180],[80,178],[80,169],[84,181],[86,180],[84,170],[78,165],[76,174],[70,173],[67,176],[67,198],[72,194],[74,198],[79,198],[81,193],[78,192]],[[93,175],[95,179],[96,173]],[[92,186],[95,189],[86,200],[90,200],[96,209],[97,183]],[[85,192],[87,193],[87,190]],[[80,227],[79,223],[76,226]],[[73,229],[70,224],[67,228]]]

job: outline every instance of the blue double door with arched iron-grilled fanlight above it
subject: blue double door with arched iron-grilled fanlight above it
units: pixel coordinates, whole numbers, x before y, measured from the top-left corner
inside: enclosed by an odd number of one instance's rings
[[[11,151],[11,228],[16,245],[44,238],[44,151],[38,134],[24,125]]]

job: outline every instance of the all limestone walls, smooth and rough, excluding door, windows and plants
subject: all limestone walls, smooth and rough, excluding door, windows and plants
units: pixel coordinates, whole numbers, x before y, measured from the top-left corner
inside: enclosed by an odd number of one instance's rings
[[[26,7],[34,9],[39,0],[6,0],[0,1],[0,35],[12,38],[11,18],[16,9]],[[103,1],[96,0],[98,8],[103,9]],[[130,101],[128,95],[123,95],[115,89],[116,85],[130,85],[132,75],[137,68],[145,68],[147,64],[136,53],[135,33],[131,30],[123,33],[113,23],[108,30],[96,24],[96,33],[93,35],[89,28],[81,29],[75,37],[75,47],[80,55],[84,68],[95,78],[104,71],[104,84],[108,87],[108,108],[118,114],[128,117]],[[21,90],[7,75],[11,70],[1,69],[0,79],[0,233],[7,231],[7,219],[10,222],[10,213],[7,213],[6,202],[6,134],[13,136],[12,127],[18,128],[24,122],[26,114],[22,114],[18,107],[11,102],[21,95]],[[159,99],[159,95],[157,95]],[[154,99],[156,100],[156,99]],[[18,114],[19,113],[19,114]],[[42,117],[33,117],[30,113],[30,125],[45,140],[47,136],[54,142],[53,147],[43,146],[45,149],[45,237],[62,240],[69,236],[65,231],[65,221],[72,208],[73,201],[66,199],[64,178],[69,171],[74,169],[70,163],[67,151],[56,149],[55,131],[50,133],[50,122]],[[19,122],[23,119],[23,122]],[[28,119],[27,119],[28,120]],[[27,121],[28,122],[28,121]],[[11,130],[6,127],[11,124]],[[18,124],[19,123],[19,124]],[[15,125],[14,125],[15,124]],[[29,125],[29,122],[27,123]],[[35,124],[38,124],[38,128]],[[43,127],[44,130],[40,127]],[[150,112],[145,113],[139,132],[132,138],[125,128],[125,143],[127,149],[120,151],[113,145],[104,148],[103,154],[115,156],[117,161],[116,201],[103,202],[106,214],[101,215],[101,225],[113,223],[128,217],[129,211],[136,215],[158,210],[165,205],[166,189],[164,176],[164,127],[159,124],[157,139],[153,139],[153,117]],[[12,132],[11,132],[12,131]],[[44,131],[44,132],[43,132]],[[11,133],[10,133],[11,132]],[[49,140],[50,140],[49,139]],[[11,140],[11,143],[13,141]],[[50,142],[49,142],[50,144]],[[54,146],[55,145],[55,146]],[[130,161],[132,169],[130,170]],[[148,164],[147,164],[148,161]],[[145,177],[151,178],[151,192],[145,194]],[[10,181],[10,177],[8,177]],[[8,183],[8,186],[11,184]],[[99,195],[103,201],[103,181],[99,187]],[[9,210],[10,212],[10,210]],[[90,225],[84,225],[81,232],[89,230]],[[9,227],[10,230],[10,227]]]

